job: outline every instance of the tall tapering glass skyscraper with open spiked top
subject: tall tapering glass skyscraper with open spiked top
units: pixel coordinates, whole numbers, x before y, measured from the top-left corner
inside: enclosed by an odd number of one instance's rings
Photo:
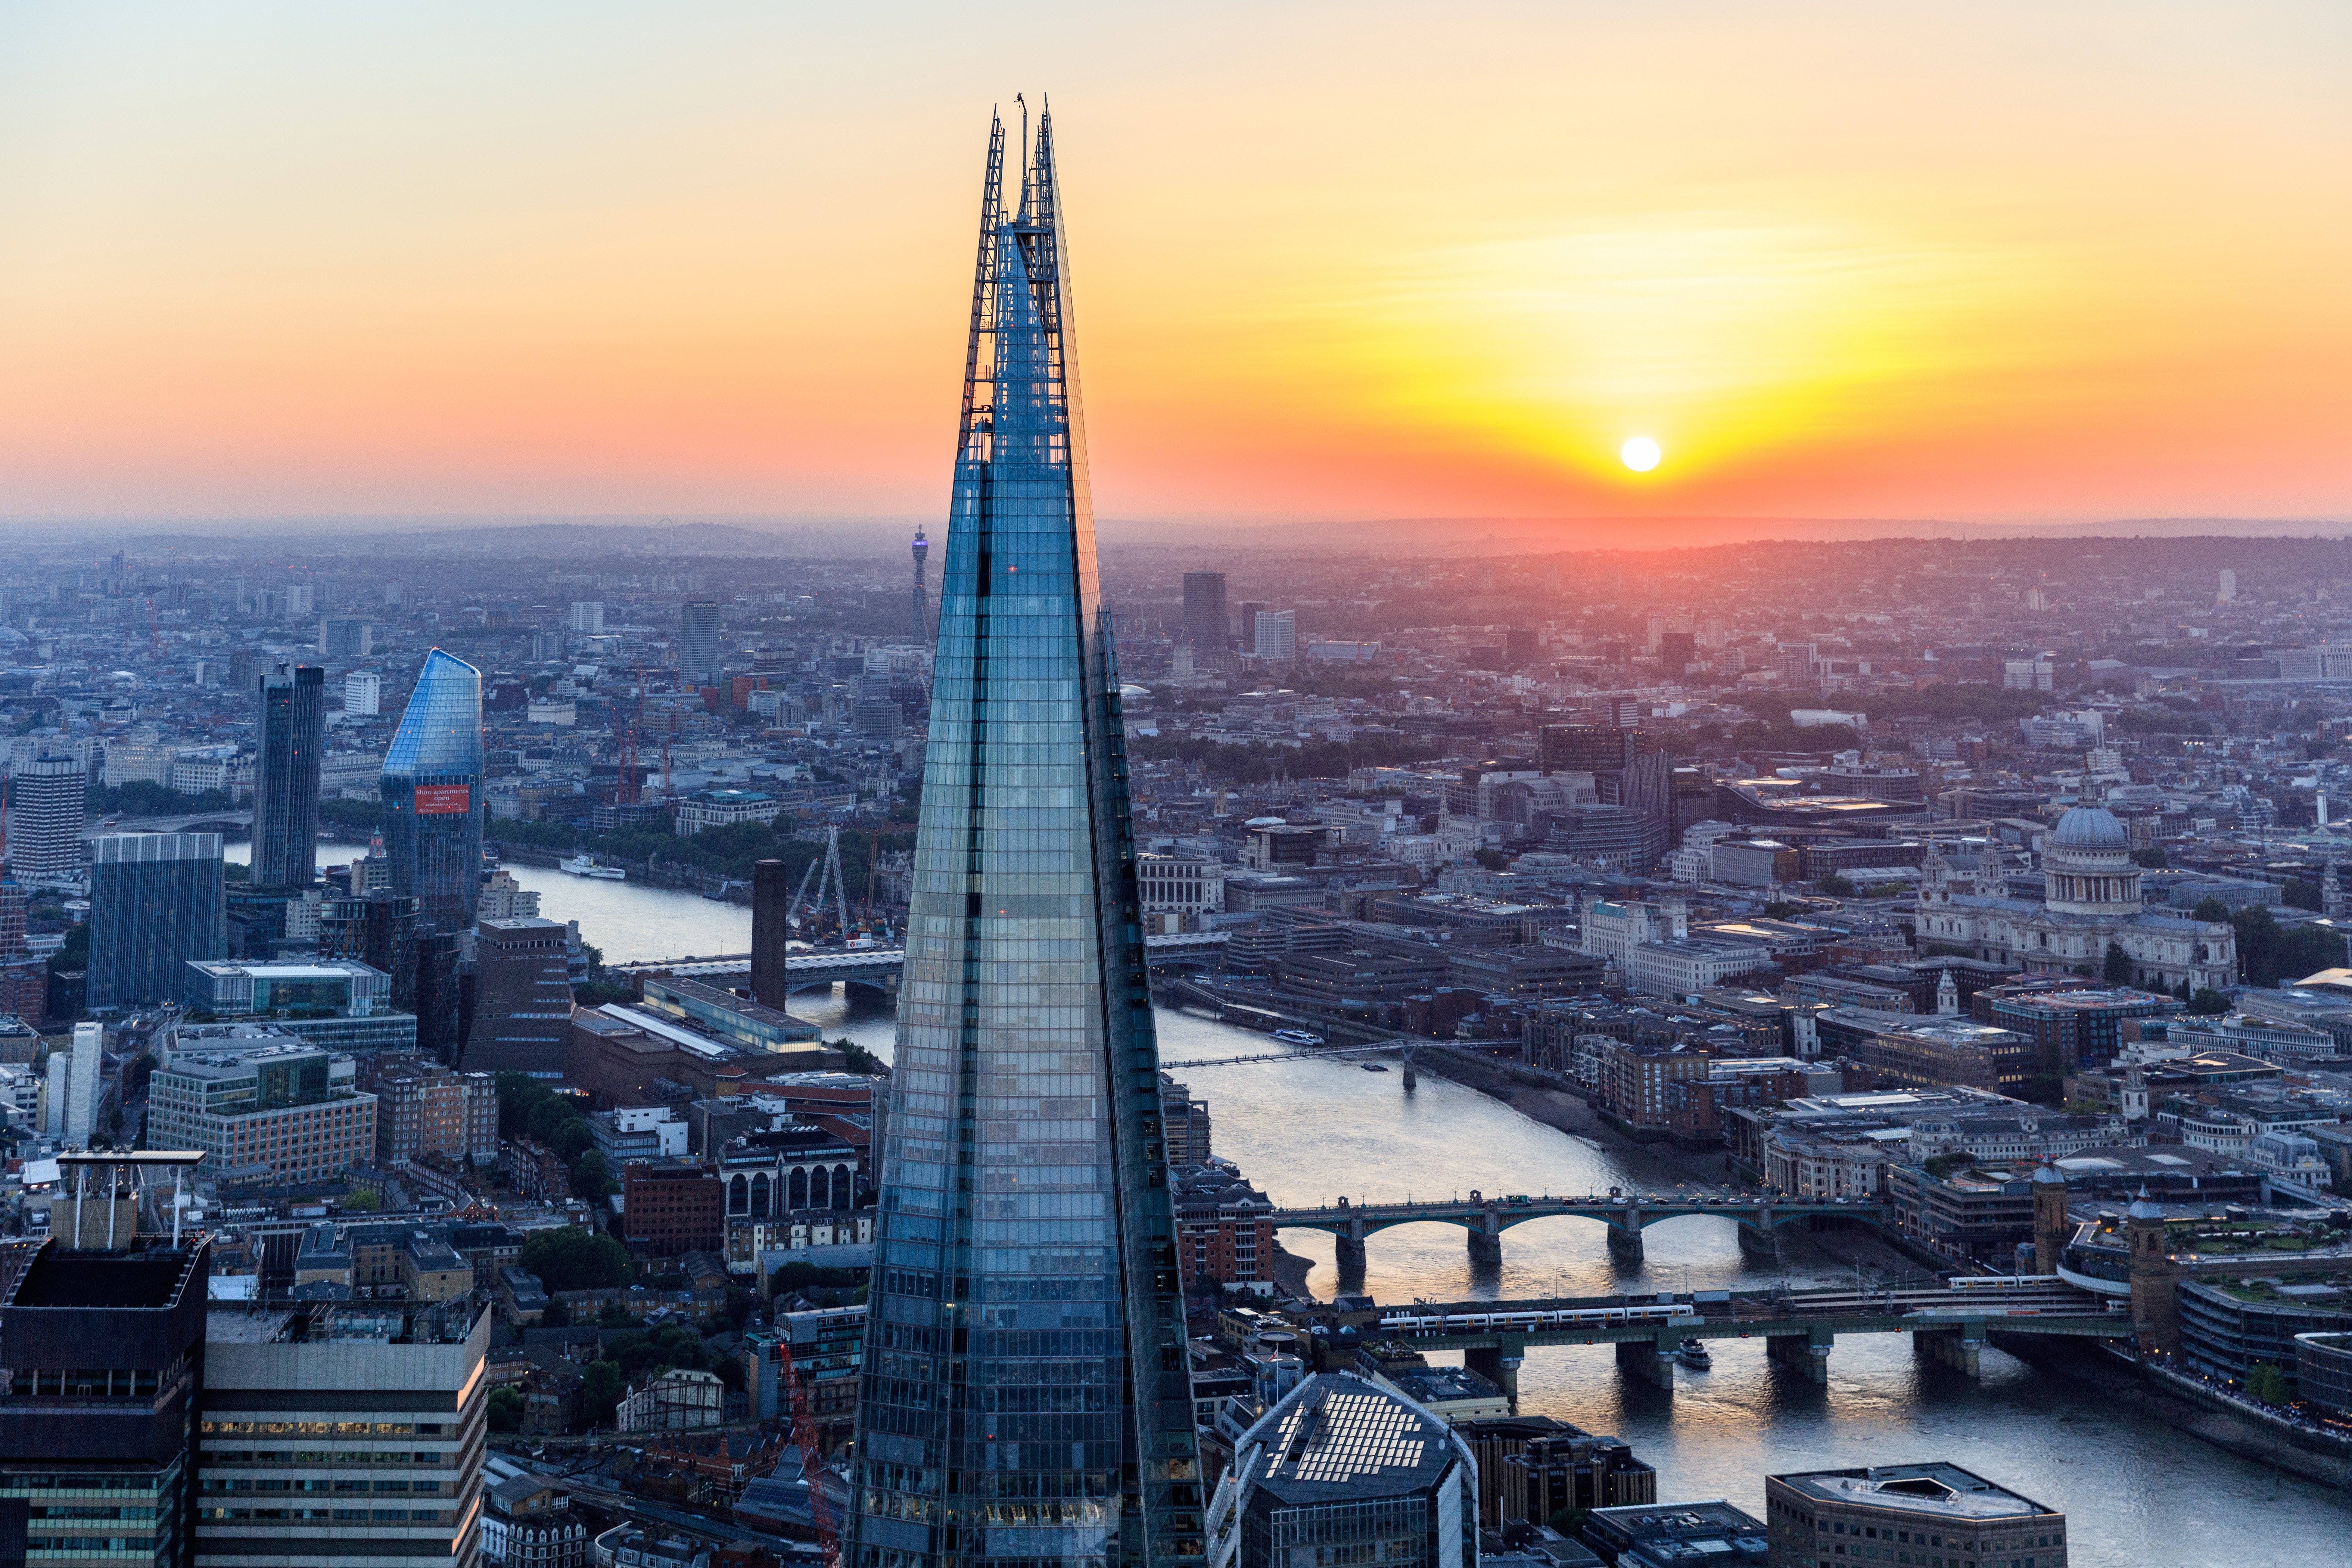
[[[851,1568],[1204,1561],[1051,115],[1018,165],[995,122]]]

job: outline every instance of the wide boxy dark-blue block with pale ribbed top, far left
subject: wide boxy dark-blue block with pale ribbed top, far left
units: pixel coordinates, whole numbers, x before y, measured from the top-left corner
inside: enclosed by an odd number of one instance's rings
[[[179,1001],[188,959],[228,957],[216,832],[111,832],[89,842],[89,1009]]]

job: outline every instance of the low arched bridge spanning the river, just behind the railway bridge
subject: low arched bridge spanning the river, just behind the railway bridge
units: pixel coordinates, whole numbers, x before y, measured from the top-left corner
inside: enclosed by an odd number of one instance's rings
[[[1484,1197],[1444,1199],[1428,1204],[1334,1204],[1327,1208],[1277,1208],[1275,1229],[1324,1229],[1338,1237],[1338,1260],[1343,1267],[1362,1267],[1364,1239],[1397,1225],[1461,1225],[1470,1232],[1470,1255],[1482,1262],[1501,1262],[1503,1232],[1529,1220],[1552,1220],[1573,1215],[1599,1220],[1609,1227],[1609,1251],[1639,1258],[1642,1229],[1686,1215],[1715,1215],[1738,1220],[1740,1248],[1757,1255],[1778,1255],[1778,1229],[1816,1215],[1837,1220],[1863,1220],[1879,1225],[1884,1208],[1875,1199],[1788,1199],[1757,1194],[1691,1194],[1691,1192],[1599,1192],[1585,1197]]]

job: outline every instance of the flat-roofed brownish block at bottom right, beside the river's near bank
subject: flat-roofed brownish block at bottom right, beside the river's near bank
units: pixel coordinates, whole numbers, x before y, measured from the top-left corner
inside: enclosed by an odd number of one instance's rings
[[[2065,1514],[1959,1465],[1764,1476],[1773,1563],[2032,1563],[2065,1568]]]

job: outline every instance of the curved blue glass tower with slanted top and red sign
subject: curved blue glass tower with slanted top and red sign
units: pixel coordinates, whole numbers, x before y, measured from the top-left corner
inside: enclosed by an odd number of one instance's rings
[[[416,931],[461,931],[482,896],[482,672],[433,649],[383,752],[383,853]]]

